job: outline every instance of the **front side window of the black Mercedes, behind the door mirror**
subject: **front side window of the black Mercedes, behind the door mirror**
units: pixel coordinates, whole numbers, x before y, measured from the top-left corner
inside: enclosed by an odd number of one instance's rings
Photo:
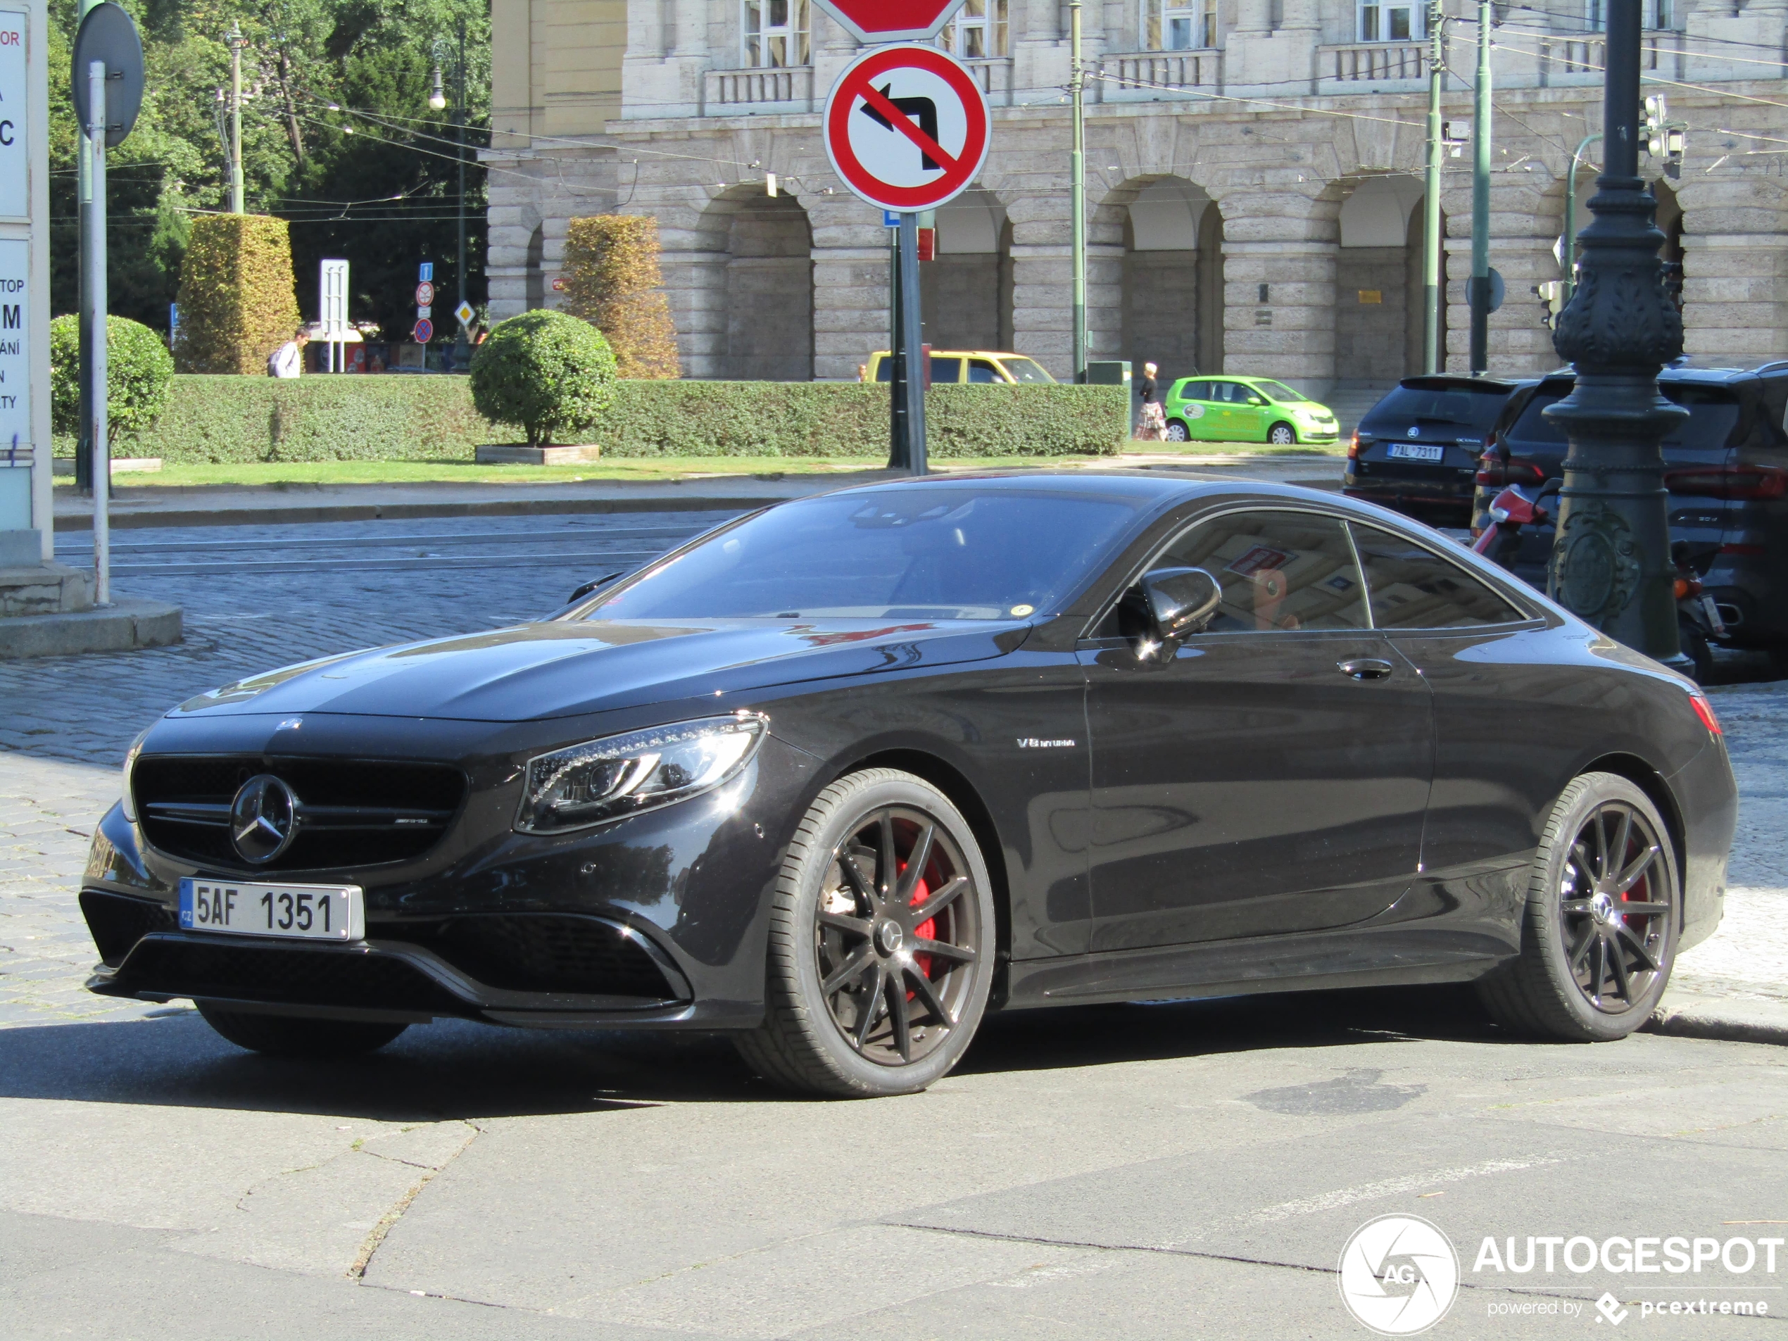
[[[1334,517],[1239,511],[1200,522],[1151,569],[1203,569],[1223,588],[1209,633],[1362,629],[1364,586]]]

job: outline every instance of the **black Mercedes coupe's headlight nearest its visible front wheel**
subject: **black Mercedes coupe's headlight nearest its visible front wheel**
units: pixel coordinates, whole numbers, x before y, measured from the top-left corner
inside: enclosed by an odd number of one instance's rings
[[[527,760],[515,828],[563,833],[713,790],[738,774],[769,719],[758,713],[654,726]]]

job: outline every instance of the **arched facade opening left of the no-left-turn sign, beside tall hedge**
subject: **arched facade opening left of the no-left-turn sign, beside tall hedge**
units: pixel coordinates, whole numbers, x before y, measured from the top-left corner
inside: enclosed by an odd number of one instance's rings
[[[694,304],[679,331],[690,377],[814,379],[814,229],[792,195],[735,186],[701,216]]]

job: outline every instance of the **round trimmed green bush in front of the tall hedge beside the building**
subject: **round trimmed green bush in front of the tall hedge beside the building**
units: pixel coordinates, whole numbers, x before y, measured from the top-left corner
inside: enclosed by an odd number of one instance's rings
[[[529,447],[588,433],[615,401],[615,354],[588,322],[538,311],[499,322],[472,354],[472,404]]]

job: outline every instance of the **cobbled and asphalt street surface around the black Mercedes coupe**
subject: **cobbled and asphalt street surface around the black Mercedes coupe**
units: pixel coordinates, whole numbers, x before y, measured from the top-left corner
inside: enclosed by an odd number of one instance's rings
[[[717,1041],[442,1023],[293,1064],[80,991],[80,853],[156,712],[542,613],[715,520],[134,531],[166,547],[120,545],[118,586],[181,601],[188,644],[0,667],[0,1337],[1364,1337],[1337,1261],[1396,1212],[1461,1259],[1430,1336],[1788,1337],[1788,1246],[1775,1273],[1765,1248],[1473,1269],[1486,1236],[1788,1236],[1779,1048],[1513,1044],[1463,992],[1275,996],[994,1017],[924,1096],[815,1103]],[[1738,719],[1765,808],[1747,790],[1734,878],[1768,885],[1774,701]],[[1672,1300],[1770,1318],[1641,1314]]]

